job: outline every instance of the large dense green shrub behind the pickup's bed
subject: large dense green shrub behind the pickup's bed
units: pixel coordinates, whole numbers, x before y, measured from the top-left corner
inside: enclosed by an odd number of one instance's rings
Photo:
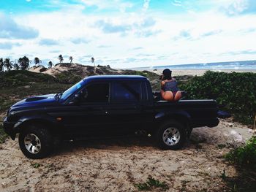
[[[235,120],[252,124],[256,113],[256,74],[206,72],[180,85],[188,99],[216,99],[220,110],[231,112]]]

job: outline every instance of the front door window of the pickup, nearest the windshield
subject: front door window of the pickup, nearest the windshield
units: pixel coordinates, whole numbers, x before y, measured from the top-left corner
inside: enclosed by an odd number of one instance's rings
[[[82,93],[82,103],[108,103],[109,98],[109,84],[95,83],[86,87]]]

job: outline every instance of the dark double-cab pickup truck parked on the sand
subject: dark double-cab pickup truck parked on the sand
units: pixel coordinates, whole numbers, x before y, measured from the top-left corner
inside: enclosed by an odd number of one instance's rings
[[[214,100],[162,101],[146,77],[86,77],[67,91],[33,96],[12,105],[4,131],[28,158],[44,158],[57,138],[99,139],[145,133],[163,149],[176,150],[199,126],[217,126]]]

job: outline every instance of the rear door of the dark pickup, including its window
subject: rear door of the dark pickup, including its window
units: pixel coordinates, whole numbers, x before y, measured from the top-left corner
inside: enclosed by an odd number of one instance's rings
[[[111,82],[110,104],[105,106],[110,134],[132,133],[145,123],[142,83],[136,80]]]

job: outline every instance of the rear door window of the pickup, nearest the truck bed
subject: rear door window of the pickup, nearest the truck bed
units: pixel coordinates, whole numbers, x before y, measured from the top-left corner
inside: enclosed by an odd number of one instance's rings
[[[138,102],[141,99],[141,82],[113,82],[113,102]]]

